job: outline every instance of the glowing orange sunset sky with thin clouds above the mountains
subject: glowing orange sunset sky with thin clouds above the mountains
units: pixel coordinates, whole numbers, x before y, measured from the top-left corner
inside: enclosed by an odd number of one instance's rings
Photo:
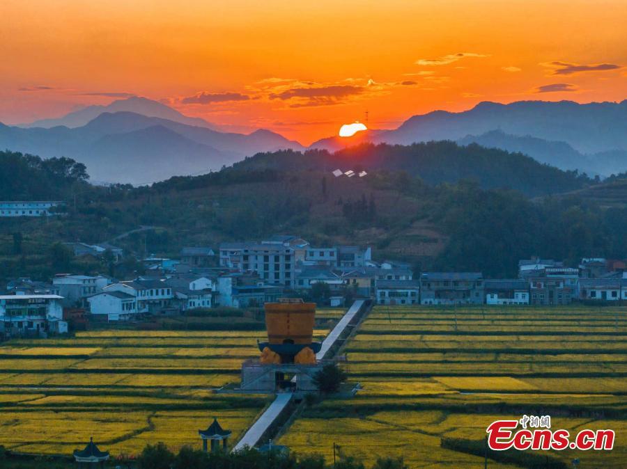
[[[627,0],[3,0],[0,121],[127,95],[301,143],[484,100],[627,98]]]

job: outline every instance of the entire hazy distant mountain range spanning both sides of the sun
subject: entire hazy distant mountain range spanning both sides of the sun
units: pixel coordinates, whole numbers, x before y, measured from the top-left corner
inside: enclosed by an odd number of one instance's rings
[[[217,170],[257,152],[305,150],[268,130],[235,134],[213,127],[160,102],[130,97],[59,119],[14,127],[0,124],[0,148],[72,157],[88,166],[93,180],[134,184]],[[413,116],[398,129],[323,138],[309,149],[335,152],[365,142],[408,145],[440,140],[479,143],[522,152],[564,170],[611,175],[627,170],[627,100],[482,102],[459,113]]]

